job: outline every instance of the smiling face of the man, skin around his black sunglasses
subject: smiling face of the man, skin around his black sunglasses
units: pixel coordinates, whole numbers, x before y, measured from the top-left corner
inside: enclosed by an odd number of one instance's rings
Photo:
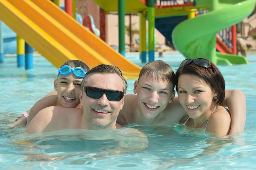
[[[85,86],[123,91],[124,83],[115,73],[94,73],[88,75]],[[115,128],[119,111],[124,106],[124,98],[120,101],[109,101],[106,94],[103,94],[99,99],[94,99],[81,91],[80,99],[89,129]]]

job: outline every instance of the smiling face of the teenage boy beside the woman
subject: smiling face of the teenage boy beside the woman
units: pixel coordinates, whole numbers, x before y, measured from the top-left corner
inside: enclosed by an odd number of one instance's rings
[[[175,97],[173,85],[167,81],[149,78],[143,75],[135,81],[134,93],[137,93],[139,111],[144,117],[153,119],[157,117]]]

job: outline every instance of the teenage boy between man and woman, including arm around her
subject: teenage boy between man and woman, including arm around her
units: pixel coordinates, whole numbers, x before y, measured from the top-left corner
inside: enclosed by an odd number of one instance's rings
[[[117,122],[127,124],[174,124],[187,113],[175,97],[175,73],[164,61],[146,64],[134,83],[134,93],[126,94]],[[229,135],[243,132],[246,118],[245,94],[240,90],[225,91],[224,106],[231,113]],[[137,94],[137,95],[136,95]]]

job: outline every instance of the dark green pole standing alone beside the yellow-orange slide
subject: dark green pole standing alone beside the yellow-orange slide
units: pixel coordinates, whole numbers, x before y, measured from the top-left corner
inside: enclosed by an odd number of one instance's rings
[[[125,0],[118,0],[118,36],[119,36],[119,53],[125,56]]]

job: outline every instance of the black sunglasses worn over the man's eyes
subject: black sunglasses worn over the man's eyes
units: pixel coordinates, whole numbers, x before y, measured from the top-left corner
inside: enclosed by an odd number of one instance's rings
[[[83,91],[88,97],[99,99],[105,93],[109,101],[120,101],[124,97],[124,92],[122,91],[114,91],[114,90],[106,90],[97,87],[83,87]]]

